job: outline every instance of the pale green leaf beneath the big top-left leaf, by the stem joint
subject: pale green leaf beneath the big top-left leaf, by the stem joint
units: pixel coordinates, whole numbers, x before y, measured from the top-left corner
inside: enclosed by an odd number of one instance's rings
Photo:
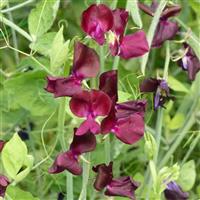
[[[52,41],[55,38],[56,32],[45,33],[39,37],[36,42],[30,44],[30,48],[38,53],[49,56],[52,47]]]

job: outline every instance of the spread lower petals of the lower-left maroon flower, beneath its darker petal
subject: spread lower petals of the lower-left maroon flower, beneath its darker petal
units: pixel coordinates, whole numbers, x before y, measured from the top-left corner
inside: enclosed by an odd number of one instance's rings
[[[57,174],[68,170],[74,175],[82,174],[82,167],[78,162],[77,156],[72,151],[67,151],[59,154],[52,167],[49,169],[50,174]]]

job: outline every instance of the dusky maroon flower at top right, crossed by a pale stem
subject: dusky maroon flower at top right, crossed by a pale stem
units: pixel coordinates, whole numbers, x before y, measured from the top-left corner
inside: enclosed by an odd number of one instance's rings
[[[152,1],[151,6],[147,6],[143,3],[138,3],[139,8],[150,16],[154,16],[154,13],[158,7],[156,0]],[[179,31],[178,24],[169,20],[170,17],[176,16],[181,11],[179,5],[166,6],[161,14],[160,21],[157,25],[155,35],[152,41],[152,47],[161,47],[166,40],[172,40]]]

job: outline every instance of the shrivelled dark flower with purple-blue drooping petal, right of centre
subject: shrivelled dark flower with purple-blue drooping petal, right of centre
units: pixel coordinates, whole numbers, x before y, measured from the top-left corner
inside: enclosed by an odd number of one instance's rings
[[[140,84],[141,92],[153,92],[154,93],[154,109],[158,109],[159,106],[164,107],[165,102],[170,99],[169,87],[167,82],[163,79],[145,79]]]

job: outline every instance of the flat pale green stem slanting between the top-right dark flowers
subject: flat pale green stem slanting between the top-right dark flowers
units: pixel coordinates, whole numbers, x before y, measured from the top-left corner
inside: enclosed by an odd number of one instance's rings
[[[153,17],[152,23],[151,23],[151,25],[149,27],[149,30],[148,30],[148,33],[147,33],[147,40],[148,40],[149,47],[152,44],[154,33],[156,31],[157,24],[159,23],[160,15],[161,15],[163,9],[165,8],[166,3],[167,3],[166,0],[161,0],[160,1],[160,4],[159,4],[158,8],[156,9],[156,13],[155,13],[155,15]],[[145,69],[146,69],[146,64],[147,64],[148,58],[149,58],[149,53],[146,53],[142,57],[141,71],[142,71],[143,75],[145,75]]]

